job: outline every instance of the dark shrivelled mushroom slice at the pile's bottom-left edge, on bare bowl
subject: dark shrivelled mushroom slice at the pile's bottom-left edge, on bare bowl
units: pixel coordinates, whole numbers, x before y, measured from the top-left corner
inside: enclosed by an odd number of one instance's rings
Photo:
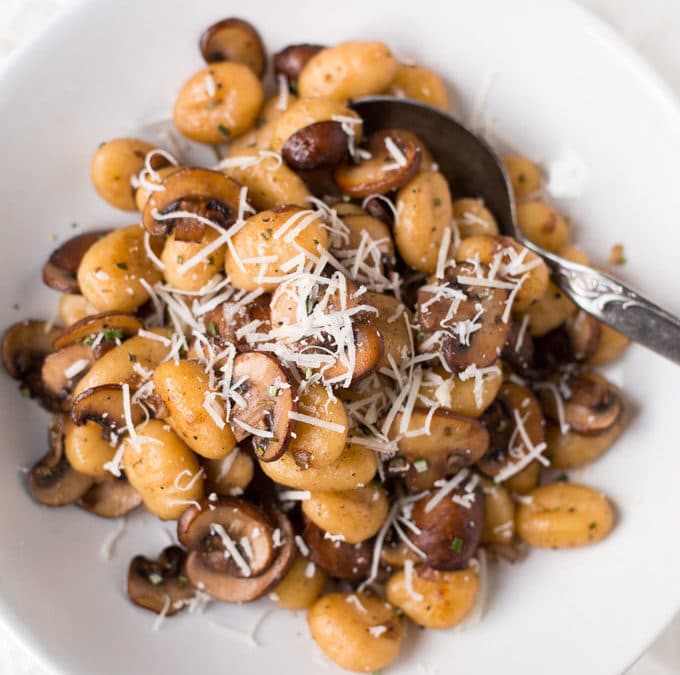
[[[179,546],[163,549],[158,560],[135,556],[128,569],[128,597],[135,605],[172,616],[195,595],[186,570],[186,553]]]

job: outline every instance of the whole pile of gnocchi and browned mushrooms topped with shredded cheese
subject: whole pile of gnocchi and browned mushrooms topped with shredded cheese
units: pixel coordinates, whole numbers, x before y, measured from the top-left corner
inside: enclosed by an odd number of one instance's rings
[[[535,253],[458,194],[409,129],[365,136],[348,103],[448,110],[442,80],[380,42],[267,57],[249,23],[200,40],[174,125],[212,167],[135,138],[100,145],[97,192],[134,223],[64,242],[43,280],[62,326],[11,326],[2,356],[52,413],[28,474],[46,506],[177,521],[129,567],[162,617],[268,595],[358,672],[407,621],[478,618],[488,560],[595,543],[610,501],[565,470],[604,453],[628,407],[593,370],[626,340],[579,311]],[[503,157],[518,225],[587,264],[542,172]]]

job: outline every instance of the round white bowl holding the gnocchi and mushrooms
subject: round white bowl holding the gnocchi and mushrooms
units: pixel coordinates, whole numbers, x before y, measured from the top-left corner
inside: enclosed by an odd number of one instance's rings
[[[1,325],[53,313],[57,297],[41,286],[40,267],[55,240],[73,234],[71,223],[131,222],[96,197],[89,158],[100,141],[169,115],[178,87],[202,65],[201,30],[232,10],[253,21],[272,50],[383,39],[443,73],[468,109],[495,72],[486,110],[501,134],[539,160],[567,152],[587,168],[583,195],[561,206],[592,258],[604,260],[623,243],[626,278],[680,312],[678,108],[625,44],[575,6],[97,0],[53,23],[11,59],[0,82]],[[616,447],[579,478],[618,505],[612,536],[495,569],[480,625],[413,630],[390,672],[620,673],[678,609],[680,370],[634,347],[610,374],[638,412]],[[199,663],[216,672],[337,670],[308,637],[303,615],[266,618],[259,648],[214,625],[247,630],[268,601],[214,605],[152,632],[153,615],[125,598],[125,576],[132,555],[166,545],[170,526],[132,517],[113,559],[102,561],[100,545],[115,523],[76,508],[40,508],[26,494],[17,467],[46,449],[46,416],[4,377],[0,420],[0,614],[52,670],[178,675]]]

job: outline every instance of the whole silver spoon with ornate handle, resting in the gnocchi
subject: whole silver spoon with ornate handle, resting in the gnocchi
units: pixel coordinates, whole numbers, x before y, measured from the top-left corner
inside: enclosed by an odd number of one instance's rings
[[[352,101],[365,132],[400,128],[415,133],[434,154],[454,197],[484,200],[504,234],[540,255],[554,282],[581,309],[619,333],[680,364],[680,319],[618,279],[570,262],[529,241],[517,227],[515,200],[505,167],[486,141],[445,112],[392,96]]]

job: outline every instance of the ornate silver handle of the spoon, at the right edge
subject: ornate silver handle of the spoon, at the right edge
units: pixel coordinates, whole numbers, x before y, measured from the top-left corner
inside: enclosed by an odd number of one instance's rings
[[[526,242],[552,269],[555,283],[584,311],[680,364],[680,319],[604,272]]]

